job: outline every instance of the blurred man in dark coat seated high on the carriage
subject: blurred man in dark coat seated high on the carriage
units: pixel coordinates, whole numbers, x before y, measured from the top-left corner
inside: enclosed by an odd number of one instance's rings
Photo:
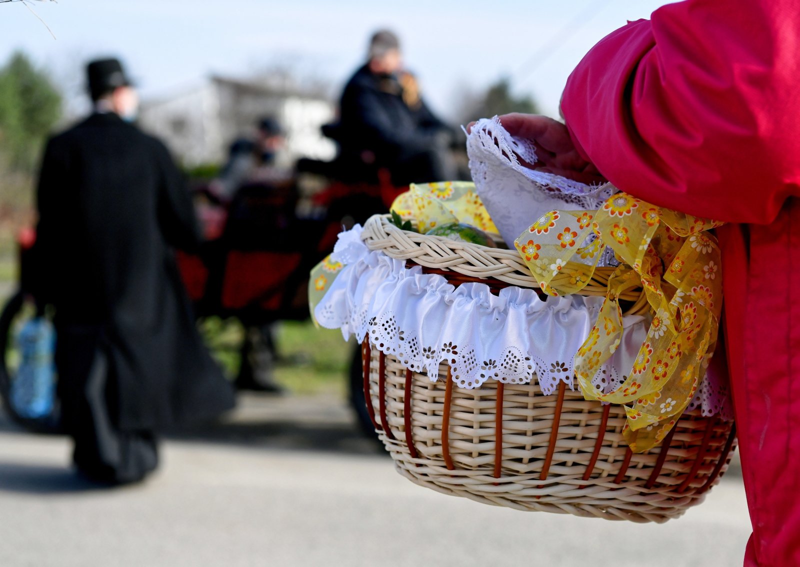
[[[342,155],[390,170],[398,186],[452,180],[457,175],[450,155],[453,130],[434,116],[414,76],[401,67],[397,36],[378,31],[368,61],[342,93],[336,129]]]

